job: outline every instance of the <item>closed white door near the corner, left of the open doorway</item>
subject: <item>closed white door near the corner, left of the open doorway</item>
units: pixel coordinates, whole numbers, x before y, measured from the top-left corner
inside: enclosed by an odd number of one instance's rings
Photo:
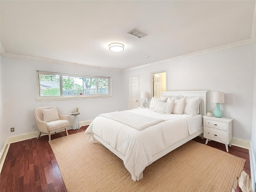
[[[129,77],[129,110],[139,106],[138,76]]]

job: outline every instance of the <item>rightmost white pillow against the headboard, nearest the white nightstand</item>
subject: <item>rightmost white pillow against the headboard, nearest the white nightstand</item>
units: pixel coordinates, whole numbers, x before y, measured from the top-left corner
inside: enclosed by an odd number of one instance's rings
[[[185,108],[183,113],[188,115],[197,115],[199,114],[199,105],[201,103],[200,97],[186,98]]]

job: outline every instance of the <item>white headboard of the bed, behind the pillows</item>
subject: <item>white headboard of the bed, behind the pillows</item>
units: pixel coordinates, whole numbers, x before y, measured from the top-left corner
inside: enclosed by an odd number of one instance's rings
[[[206,92],[207,91],[166,91],[162,92],[162,97],[171,96],[185,96],[185,97],[200,97],[201,104],[199,106],[199,113],[206,115]]]

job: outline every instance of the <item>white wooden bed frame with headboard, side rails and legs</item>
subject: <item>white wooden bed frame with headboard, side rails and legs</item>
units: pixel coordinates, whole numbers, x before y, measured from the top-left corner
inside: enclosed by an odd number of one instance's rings
[[[200,104],[200,107],[199,107],[199,111],[200,111],[200,114],[202,116],[204,116],[204,115],[206,115],[206,92],[207,91],[167,91],[167,92],[162,92],[162,97],[168,97],[168,96],[198,97],[199,96],[201,98],[201,104]],[[202,123],[202,125],[203,125],[203,123]],[[192,134],[192,135],[190,135],[190,136],[172,144],[171,146],[162,150],[161,152],[159,152],[157,154],[154,154],[152,156],[153,160],[147,166],[149,166],[150,164],[152,164],[156,160],[160,159],[162,156],[165,156],[166,154],[168,154],[172,150],[178,148],[179,146],[182,146],[186,142],[188,142],[188,141],[192,140],[193,138],[199,136],[200,134],[201,134],[202,139],[203,139],[204,138],[203,133],[204,133],[204,128],[202,126],[194,134]],[[94,139],[98,140],[101,144],[103,144],[106,148],[108,148],[112,153],[114,153],[120,159],[124,160],[125,156],[122,153],[120,153],[118,150],[116,150],[115,148],[110,146],[107,142],[102,140],[102,138],[98,137],[95,134],[92,134],[92,135],[93,135],[93,143],[94,143]],[[142,178],[143,178],[143,172],[141,172],[140,176],[137,177],[136,180],[138,181]]]

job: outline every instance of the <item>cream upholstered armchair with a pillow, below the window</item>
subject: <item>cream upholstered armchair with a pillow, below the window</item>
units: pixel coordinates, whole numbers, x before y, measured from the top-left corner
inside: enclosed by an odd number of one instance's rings
[[[49,141],[51,140],[51,133],[56,133],[56,131],[66,130],[66,134],[68,135],[68,115],[58,114],[56,107],[48,106],[36,108],[35,118],[39,130],[37,139],[42,132],[48,134]]]

